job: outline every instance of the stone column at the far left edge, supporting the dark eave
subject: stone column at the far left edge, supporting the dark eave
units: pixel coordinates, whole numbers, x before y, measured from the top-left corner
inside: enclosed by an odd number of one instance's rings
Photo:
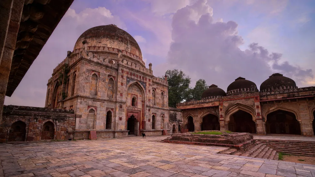
[[[24,1],[0,1],[0,120]]]

